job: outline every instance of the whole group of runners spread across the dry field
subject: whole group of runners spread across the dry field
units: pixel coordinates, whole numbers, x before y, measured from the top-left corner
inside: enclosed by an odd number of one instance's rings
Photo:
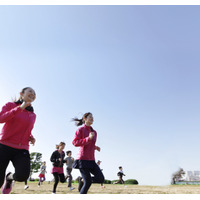
[[[2,194],[9,194],[12,191],[13,181],[25,182],[25,187],[27,186],[26,181],[30,175],[29,143],[34,145],[36,141],[31,134],[36,120],[36,114],[32,107],[35,99],[36,93],[31,87],[23,88],[19,99],[6,103],[0,112],[0,123],[4,123],[0,133],[0,187]],[[93,120],[90,112],[85,113],[81,119],[73,118],[75,124],[81,126],[77,129],[72,141],[75,147],[79,147],[76,160],[71,157],[71,151],[67,151],[67,158],[65,158],[64,142],[56,145],[56,150],[50,157],[53,164],[51,173],[54,176],[52,194],[56,194],[58,182],[64,183],[67,179],[69,190],[74,189],[71,185],[72,168],[79,169],[81,173],[78,187],[80,194],[87,194],[92,183],[103,184],[104,175],[95,162],[94,156],[95,150],[100,151],[101,148],[96,146],[97,132],[91,126]],[[6,174],[10,161],[15,172]],[[63,170],[64,163],[67,164],[66,177]],[[120,170],[122,171],[122,169]],[[38,186],[45,180],[45,172],[46,163],[44,162]],[[123,172],[119,175],[120,182],[123,181],[123,175]]]

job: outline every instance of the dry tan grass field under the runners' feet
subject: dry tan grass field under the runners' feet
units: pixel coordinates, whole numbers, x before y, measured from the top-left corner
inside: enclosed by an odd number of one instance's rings
[[[24,190],[24,183],[16,182],[12,189],[12,194],[51,194],[53,182],[45,182],[38,187],[37,182],[29,182],[29,188]],[[57,194],[79,194],[78,184],[73,184],[75,189],[69,191],[67,183],[59,183]],[[200,194],[198,185],[169,185],[169,186],[142,186],[142,185],[113,185],[105,184],[101,188],[100,184],[92,184],[88,194]]]

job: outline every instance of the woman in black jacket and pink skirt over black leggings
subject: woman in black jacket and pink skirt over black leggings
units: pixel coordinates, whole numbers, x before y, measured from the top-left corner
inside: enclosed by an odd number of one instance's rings
[[[65,158],[65,152],[63,149],[65,148],[65,143],[60,142],[59,145],[56,145],[56,151],[54,151],[51,155],[51,162],[53,163],[53,168],[51,173],[54,176],[54,186],[53,186],[53,194],[56,194],[56,188],[58,185],[58,182],[60,180],[61,183],[64,183],[66,181],[64,171],[63,171],[63,164],[66,162],[64,160]]]

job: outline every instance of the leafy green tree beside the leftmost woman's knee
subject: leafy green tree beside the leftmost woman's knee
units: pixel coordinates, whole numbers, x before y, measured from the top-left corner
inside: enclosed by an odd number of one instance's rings
[[[30,154],[31,159],[31,172],[30,172],[30,179],[34,173],[37,173],[42,165],[42,154],[38,152],[32,152]]]

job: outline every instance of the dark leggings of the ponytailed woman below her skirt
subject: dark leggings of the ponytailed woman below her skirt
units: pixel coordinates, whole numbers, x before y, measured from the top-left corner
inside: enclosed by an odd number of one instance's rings
[[[81,188],[80,194],[87,194],[92,183],[104,182],[103,173],[101,172],[99,166],[96,163],[94,164],[93,168],[82,168],[79,170],[84,180],[84,184]],[[90,173],[93,174],[94,177],[91,177]]]

